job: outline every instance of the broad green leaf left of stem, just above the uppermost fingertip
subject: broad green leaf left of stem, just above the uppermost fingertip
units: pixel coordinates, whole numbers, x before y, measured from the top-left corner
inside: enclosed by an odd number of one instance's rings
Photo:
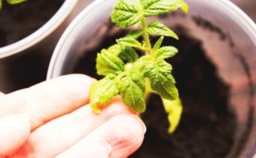
[[[117,56],[104,49],[97,55],[96,69],[99,75],[114,74],[124,70],[124,63]]]

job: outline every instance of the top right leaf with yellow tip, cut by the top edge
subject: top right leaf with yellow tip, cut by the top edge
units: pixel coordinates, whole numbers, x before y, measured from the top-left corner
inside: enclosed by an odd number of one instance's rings
[[[145,8],[145,17],[157,16],[178,8],[186,11],[184,6],[187,5],[183,0],[144,0],[142,3]]]

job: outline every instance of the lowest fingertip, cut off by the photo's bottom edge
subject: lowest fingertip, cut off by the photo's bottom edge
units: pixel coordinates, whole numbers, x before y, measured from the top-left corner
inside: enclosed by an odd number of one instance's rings
[[[75,144],[69,150],[56,156],[56,158],[108,158],[111,153],[111,146],[102,138],[85,138]]]

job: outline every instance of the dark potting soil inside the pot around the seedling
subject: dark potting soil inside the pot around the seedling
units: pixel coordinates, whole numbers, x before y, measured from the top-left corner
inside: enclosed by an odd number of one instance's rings
[[[148,128],[145,141],[130,157],[223,158],[231,150],[236,131],[236,116],[228,102],[229,86],[218,77],[218,70],[206,56],[201,41],[188,35],[181,26],[175,32],[180,40],[165,38],[163,45],[172,44],[179,50],[169,62],[184,106],[181,123],[172,135],[168,134],[167,114],[160,97],[151,96],[142,114]],[[124,31],[115,35],[106,33],[98,47],[85,50],[72,72],[100,78],[95,69],[96,53],[124,34]]]

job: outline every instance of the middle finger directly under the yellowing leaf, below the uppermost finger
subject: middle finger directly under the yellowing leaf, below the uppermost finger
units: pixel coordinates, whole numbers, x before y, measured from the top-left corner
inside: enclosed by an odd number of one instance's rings
[[[102,114],[94,114],[90,106],[86,105],[36,129],[26,143],[32,147],[34,156],[53,157],[118,114],[131,114],[120,97],[114,98]]]

